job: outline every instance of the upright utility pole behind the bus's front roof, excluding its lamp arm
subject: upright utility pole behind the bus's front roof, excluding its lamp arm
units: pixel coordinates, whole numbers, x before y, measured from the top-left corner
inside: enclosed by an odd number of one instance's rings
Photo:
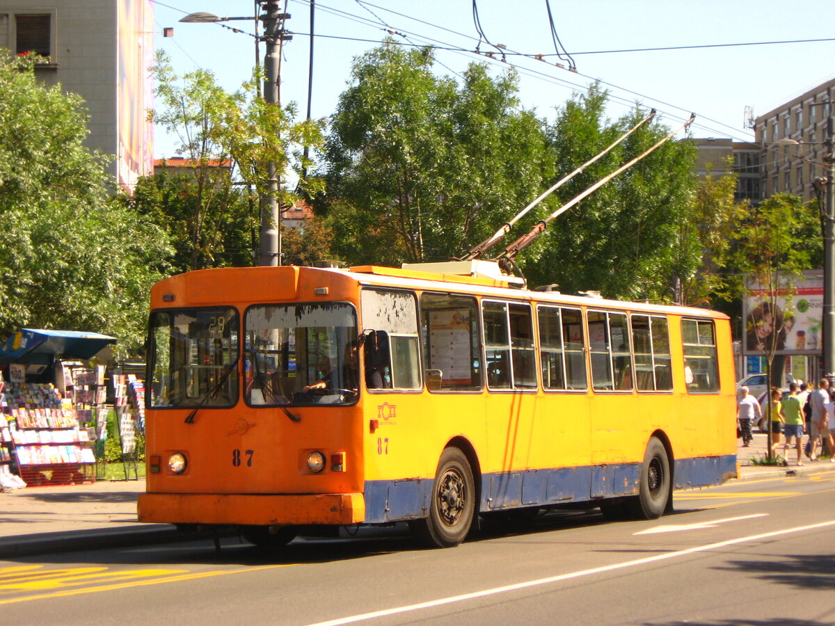
[[[278,0],[265,0],[261,21],[264,23],[264,41],[266,42],[264,99],[267,103],[277,106],[279,104],[278,67],[281,59]],[[276,164],[272,161],[268,163],[266,171],[270,181],[266,194],[261,197],[261,240],[258,265],[276,266],[281,261],[281,223],[277,199],[279,185]]]

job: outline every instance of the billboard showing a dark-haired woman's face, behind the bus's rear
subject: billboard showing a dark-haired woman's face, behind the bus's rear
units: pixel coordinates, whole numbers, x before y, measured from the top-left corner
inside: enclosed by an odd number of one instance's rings
[[[804,272],[802,280],[798,280],[792,289],[778,290],[773,299],[772,294],[759,285],[748,282],[746,286],[743,354],[763,355],[771,347],[775,333],[778,355],[820,354],[822,270]]]

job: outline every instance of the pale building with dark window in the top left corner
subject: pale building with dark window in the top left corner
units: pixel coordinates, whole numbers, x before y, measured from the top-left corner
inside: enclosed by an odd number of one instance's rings
[[[115,156],[116,184],[130,191],[152,173],[150,0],[0,0],[0,46],[38,55],[39,79],[84,99],[86,144]]]

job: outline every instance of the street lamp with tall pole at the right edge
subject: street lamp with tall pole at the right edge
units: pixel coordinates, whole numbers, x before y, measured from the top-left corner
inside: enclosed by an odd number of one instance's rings
[[[795,139],[777,139],[777,145],[803,145],[807,142]],[[820,145],[820,144],[811,144]],[[827,139],[823,142],[826,154],[826,177],[816,179],[826,186],[826,202],[821,211],[823,231],[823,310],[821,328],[821,347],[823,353],[823,371],[830,385],[835,382],[835,120],[832,114],[827,116]]]

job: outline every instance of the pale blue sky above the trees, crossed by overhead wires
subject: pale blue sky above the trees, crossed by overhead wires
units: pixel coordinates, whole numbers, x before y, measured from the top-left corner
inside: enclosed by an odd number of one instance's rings
[[[154,47],[169,54],[175,72],[210,69],[221,86],[234,90],[251,75],[255,39],[251,22],[227,22],[242,33],[215,23],[179,23],[188,13],[205,11],[222,17],[255,15],[252,0],[152,0]],[[282,0],[291,19],[281,62],[282,103],[307,108],[310,63],[310,3]],[[548,4],[563,50],[571,54],[577,73],[554,56]],[[595,79],[610,90],[610,117],[634,106],[655,108],[671,129],[691,112],[697,138],[751,141],[745,128],[746,106],[764,114],[818,83],[835,76],[835,40],[816,43],[773,43],[835,39],[832,0],[316,0],[311,117],[326,118],[351,79],[353,58],[376,47],[387,31],[404,44],[433,44],[438,74],[458,78],[468,63],[483,62],[498,74],[519,71],[519,101],[540,117],[553,118],[556,107]],[[162,29],[174,27],[174,37]],[[506,48],[505,61],[473,53]],[[675,48],[623,52],[636,48]],[[462,52],[461,50],[468,51]],[[620,52],[608,52],[620,51]],[[519,53],[519,54],[514,54]],[[261,56],[264,49],[261,45]],[[154,156],[175,155],[175,144],[156,129]]]

